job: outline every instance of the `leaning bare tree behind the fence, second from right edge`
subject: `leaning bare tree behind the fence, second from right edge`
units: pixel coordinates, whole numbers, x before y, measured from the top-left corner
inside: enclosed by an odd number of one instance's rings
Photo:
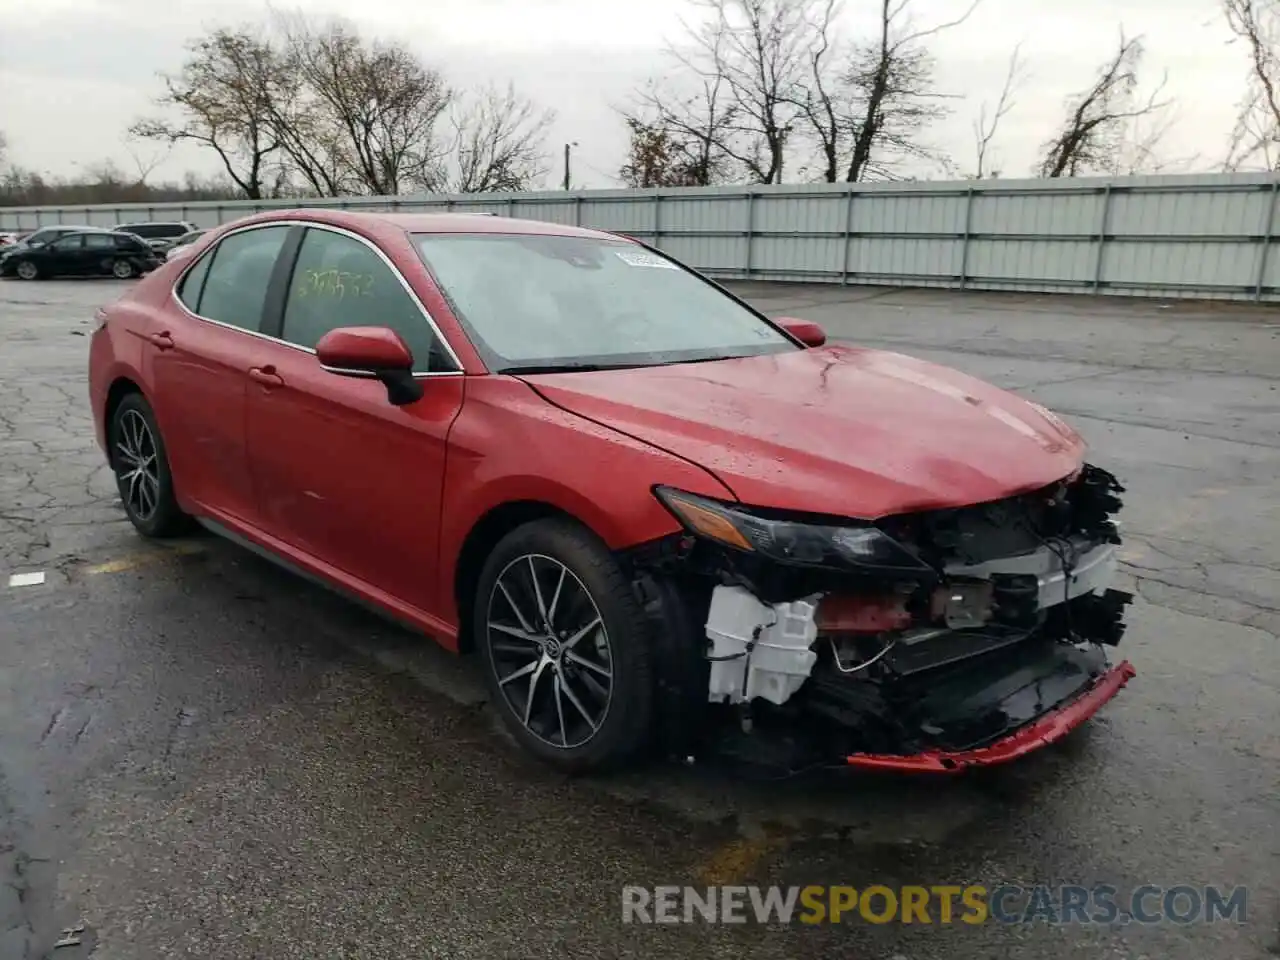
[[[1121,32],[1115,54],[1098,70],[1093,84],[1071,99],[1059,133],[1043,145],[1041,177],[1078,177],[1115,169],[1133,120],[1158,115],[1170,106],[1171,101],[1160,99],[1164,84],[1146,99],[1139,96],[1142,55],[1142,37],[1130,40]]]

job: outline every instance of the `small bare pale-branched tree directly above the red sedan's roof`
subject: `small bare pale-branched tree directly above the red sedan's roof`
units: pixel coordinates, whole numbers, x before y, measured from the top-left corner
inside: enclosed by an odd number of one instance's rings
[[[451,118],[458,193],[529,189],[548,172],[547,131],[552,110],[506,90],[490,87],[471,102],[460,104]]]

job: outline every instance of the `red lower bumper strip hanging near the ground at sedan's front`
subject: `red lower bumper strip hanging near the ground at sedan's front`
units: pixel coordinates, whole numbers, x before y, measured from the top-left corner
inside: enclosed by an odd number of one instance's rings
[[[1028,723],[1021,730],[989,746],[954,753],[927,750],[922,754],[905,756],[850,754],[845,760],[850,767],[909,773],[959,773],[966,767],[991,767],[997,763],[1009,763],[1065,737],[1097,713],[1102,704],[1119,694],[1120,687],[1128,684],[1137,672],[1129,660],[1116,664],[1094,680],[1093,685],[1071,703],[1052,713],[1046,713],[1034,723]]]

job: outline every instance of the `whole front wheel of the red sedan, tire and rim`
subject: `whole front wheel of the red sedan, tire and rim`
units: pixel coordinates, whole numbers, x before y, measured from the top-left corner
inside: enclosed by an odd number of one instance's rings
[[[503,722],[567,773],[620,765],[648,742],[646,622],[609,549],[568,520],[508,534],[485,563],[472,618]]]

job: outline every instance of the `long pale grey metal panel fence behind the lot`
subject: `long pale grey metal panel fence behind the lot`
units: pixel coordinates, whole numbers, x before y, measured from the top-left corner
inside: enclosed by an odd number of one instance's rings
[[[709,187],[0,209],[0,229],[297,206],[616,230],[724,279],[1280,301],[1274,174]]]

